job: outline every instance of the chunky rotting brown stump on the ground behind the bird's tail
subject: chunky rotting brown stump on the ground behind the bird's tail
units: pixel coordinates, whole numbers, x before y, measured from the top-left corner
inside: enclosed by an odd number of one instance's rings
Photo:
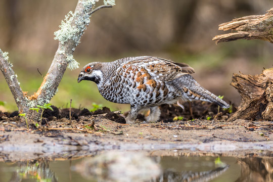
[[[230,120],[273,119],[273,68],[254,76],[233,74],[231,85],[238,90],[242,103]]]

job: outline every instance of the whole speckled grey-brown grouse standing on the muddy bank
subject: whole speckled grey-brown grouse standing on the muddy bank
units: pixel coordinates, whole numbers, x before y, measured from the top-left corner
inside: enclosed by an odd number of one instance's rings
[[[230,105],[202,87],[193,77],[194,69],[185,63],[151,57],[127,57],[113,62],[92,62],[83,67],[78,76],[94,81],[100,94],[108,101],[130,104],[125,118],[135,123],[141,110],[150,109],[147,123],[158,121],[162,104],[183,101],[207,101],[222,108]]]

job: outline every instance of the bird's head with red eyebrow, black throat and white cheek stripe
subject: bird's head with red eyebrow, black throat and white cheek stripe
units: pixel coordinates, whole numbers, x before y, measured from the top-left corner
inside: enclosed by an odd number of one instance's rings
[[[90,80],[100,84],[103,80],[102,63],[93,62],[85,65],[79,74],[78,83],[81,80]]]

